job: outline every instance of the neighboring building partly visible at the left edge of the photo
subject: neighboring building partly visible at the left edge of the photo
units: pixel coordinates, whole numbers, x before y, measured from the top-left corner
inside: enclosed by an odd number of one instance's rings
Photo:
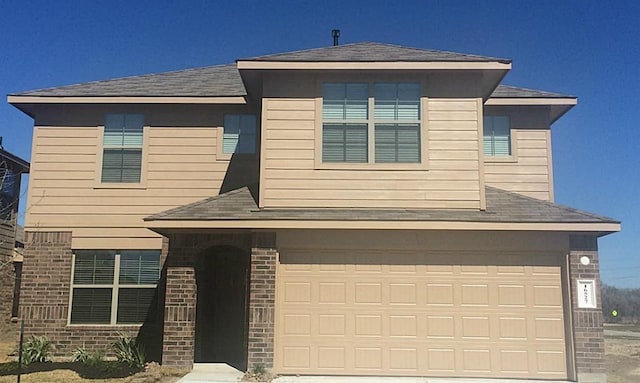
[[[2,148],[0,137],[0,330],[18,314],[22,272],[22,227],[18,225],[20,181],[29,163]]]

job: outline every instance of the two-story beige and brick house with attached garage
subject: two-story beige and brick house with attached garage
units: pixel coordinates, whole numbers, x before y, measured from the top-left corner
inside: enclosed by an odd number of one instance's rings
[[[573,96],[356,43],[16,93],[21,318],[166,365],[605,381],[597,239],[553,202]],[[560,148],[562,150],[562,148]]]

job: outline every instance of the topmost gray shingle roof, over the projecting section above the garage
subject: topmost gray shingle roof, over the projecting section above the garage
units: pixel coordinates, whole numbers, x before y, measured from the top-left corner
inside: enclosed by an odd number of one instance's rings
[[[400,45],[361,42],[323,48],[306,49],[295,52],[257,56],[238,61],[300,61],[300,62],[374,62],[374,61],[415,61],[415,62],[490,62],[510,63],[511,60],[455,53],[432,49],[403,47]]]

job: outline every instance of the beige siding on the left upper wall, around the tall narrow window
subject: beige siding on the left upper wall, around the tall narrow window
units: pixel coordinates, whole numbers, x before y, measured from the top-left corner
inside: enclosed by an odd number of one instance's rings
[[[201,121],[183,116],[192,126],[170,126],[169,116],[144,112],[141,185],[101,185],[100,122],[36,126],[26,230],[73,231],[74,248],[160,248],[161,237],[145,228],[144,217],[217,195],[230,164],[216,155],[223,114],[189,113]],[[249,161],[255,164],[255,156]]]

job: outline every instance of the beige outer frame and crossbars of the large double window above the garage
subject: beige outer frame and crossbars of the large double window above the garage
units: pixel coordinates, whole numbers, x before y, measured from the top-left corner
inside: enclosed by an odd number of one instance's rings
[[[367,83],[368,84],[368,113],[366,120],[353,120],[353,123],[367,124],[367,162],[324,162],[323,161],[323,84],[325,83]],[[375,113],[375,97],[374,87],[376,83],[417,83],[420,84],[420,115],[418,121],[400,120],[399,123],[419,125],[420,136],[420,161],[419,162],[375,162],[375,125],[378,124],[395,124],[398,120],[376,120]],[[315,169],[345,169],[345,170],[427,170],[428,169],[428,97],[426,95],[426,80],[417,79],[415,77],[390,77],[379,78],[371,76],[349,76],[349,77],[330,77],[318,79],[316,82],[316,100],[315,100]],[[348,121],[352,123],[352,121]],[[336,121],[336,123],[341,123]]]

